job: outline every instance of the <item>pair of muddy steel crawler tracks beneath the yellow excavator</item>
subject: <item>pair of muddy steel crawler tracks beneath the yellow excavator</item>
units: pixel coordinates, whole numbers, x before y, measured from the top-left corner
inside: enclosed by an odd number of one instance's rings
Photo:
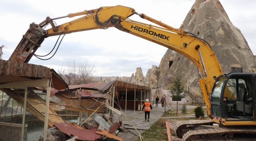
[[[169,128],[182,141],[219,140],[223,138],[256,136],[255,127],[221,127],[211,126],[214,122],[208,120],[169,121]],[[201,126],[202,125],[202,126]]]

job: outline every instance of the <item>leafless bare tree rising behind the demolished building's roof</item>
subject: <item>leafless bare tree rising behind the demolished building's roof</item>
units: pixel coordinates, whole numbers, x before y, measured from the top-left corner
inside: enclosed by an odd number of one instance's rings
[[[63,69],[61,66],[58,69],[58,74],[68,85],[81,85],[93,83],[94,69],[95,65],[90,65],[87,60],[80,63],[73,60],[72,63],[67,64],[67,69]]]

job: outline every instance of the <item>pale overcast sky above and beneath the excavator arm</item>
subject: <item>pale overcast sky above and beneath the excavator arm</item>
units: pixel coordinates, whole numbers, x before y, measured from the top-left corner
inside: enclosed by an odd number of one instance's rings
[[[256,55],[256,0],[220,0],[231,22],[238,27]],[[8,60],[32,22],[39,24],[47,16],[65,16],[102,6],[124,5],[138,13],[179,28],[195,0],[1,0],[0,45],[4,45],[3,59]],[[150,24],[137,15],[132,20]],[[63,24],[72,19],[56,20]],[[58,37],[49,37],[36,54],[51,51]],[[29,63],[55,69],[67,62],[87,61],[95,64],[95,76],[131,76],[141,67],[144,76],[152,65],[159,66],[167,48],[148,42],[116,28],[97,29],[66,34],[56,55],[47,61],[33,57]]]

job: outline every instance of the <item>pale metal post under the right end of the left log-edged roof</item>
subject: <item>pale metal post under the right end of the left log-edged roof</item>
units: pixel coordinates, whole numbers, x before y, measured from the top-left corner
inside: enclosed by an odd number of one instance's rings
[[[48,80],[49,85],[48,87],[46,87],[44,141],[46,141],[46,136],[47,136],[51,83],[52,83],[52,79]]]

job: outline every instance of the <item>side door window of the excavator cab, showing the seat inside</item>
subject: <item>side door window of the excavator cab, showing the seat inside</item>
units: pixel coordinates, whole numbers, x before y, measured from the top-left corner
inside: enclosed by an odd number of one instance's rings
[[[250,76],[233,75],[223,87],[223,116],[227,120],[252,120]]]

